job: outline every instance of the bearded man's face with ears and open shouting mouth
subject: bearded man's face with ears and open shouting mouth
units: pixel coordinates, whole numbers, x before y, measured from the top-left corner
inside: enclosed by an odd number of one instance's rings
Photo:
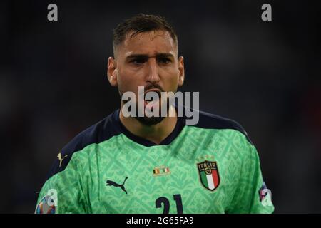
[[[116,48],[115,57],[108,58],[108,79],[112,86],[118,86],[121,95],[131,91],[138,99],[138,86],[143,86],[145,93],[154,91],[160,95],[161,92],[175,93],[178,86],[183,85],[183,57],[178,58],[177,44],[167,31],[138,33],[132,38],[128,33]],[[138,107],[138,100],[136,102]],[[144,100],[141,102],[147,104]],[[161,102],[158,105],[161,110]],[[162,118],[141,120],[155,124]]]

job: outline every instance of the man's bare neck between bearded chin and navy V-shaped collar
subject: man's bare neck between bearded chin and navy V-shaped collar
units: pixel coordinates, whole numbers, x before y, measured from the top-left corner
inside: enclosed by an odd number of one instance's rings
[[[143,125],[136,118],[124,117],[123,113],[119,112],[119,118],[125,128],[133,135],[144,138],[159,145],[165,138],[173,132],[177,123],[177,113],[175,111],[174,117],[165,117],[160,123],[156,125]]]

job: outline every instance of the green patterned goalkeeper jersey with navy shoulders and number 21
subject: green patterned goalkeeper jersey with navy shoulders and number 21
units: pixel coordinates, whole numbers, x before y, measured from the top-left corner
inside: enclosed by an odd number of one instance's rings
[[[271,213],[258,152],[233,120],[178,118],[161,144],[139,138],[116,110],[58,153],[36,213]]]

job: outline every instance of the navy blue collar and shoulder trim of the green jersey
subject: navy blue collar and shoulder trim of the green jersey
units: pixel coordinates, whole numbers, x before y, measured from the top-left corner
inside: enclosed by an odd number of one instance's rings
[[[61,164],[61,167],[59,167],[59,160],[56,159],[49,174],[47,175],[46,180],[48,180],[50,177],[55,175],[58,172],[61,172],[65,170],[65,168],[68,165],[68,162],[71,160],[71,157],[74,152],[82,150],[87,145],[91,145],[93,143],[100,143],[106,140],[109,140],[115,135],[120,135],[123,133],[128,138],[133,140],[134,142],[137,142],[138,144],[144,145],[146,147],[155,146],[157,145],[155,142],[151,142],[149,140],[146,140],[144,138],[138,137],[136,135],[133,135],[133,133],[129,132],[125,126],[121,123],[121,120],[119,118],[119,109],[108,115],[103,120],[99,121],[95,125],[92,125],[90,128],[87,128],[86,130],[83,130],[83,132],[76,135],[71,142],[69,142],[63,149],[61,150],[61,157],[64,157],[65,155],[68,155],[66,158],[63,159],[63,162]],[[195,110],[194,110],[195,111]],[[195,127],[198,128],[208,128],[208,129],[234,129],[240,131],[240,133],[243,133],[248,141],[252,144],[250,141],[250,138],[248,138],[247,133],[242,128],[241,125],[239,125],[234,120],[230,120],[228,118],[220,117],[219,115],[213,115],[210,113],[205,113],[202,111],[199,112],[199,122]],[[175,128],[170,135],[168,135],[165,140],[163,140],[159,145],[169,145],[175,138],[178,137],[180,132],[183,130],[185,126],[185,117],[178,118],[178,121],[175,125]]]

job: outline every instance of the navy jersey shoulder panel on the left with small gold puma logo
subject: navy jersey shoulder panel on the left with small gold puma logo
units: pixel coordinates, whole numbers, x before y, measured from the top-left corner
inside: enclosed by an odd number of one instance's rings
[[[100,143],[109,140],[115,135],[119,135],[120,130],[118,129],[116,123],[114,123],[115,118],[113,118],[113,115],[116,115],[116,112],[111,113],[106,118],[103,118],[103,120],[92,125],[90,128],[83,130],[81,133],[76,135],[75,138],[68,142],[68,144],[63,147],[61,152],[58,153],[54,164],[52,165],[51,170],[46,177],[46,180],[56,173],[65,170],[74,153],[80,152],[88,145]]]

